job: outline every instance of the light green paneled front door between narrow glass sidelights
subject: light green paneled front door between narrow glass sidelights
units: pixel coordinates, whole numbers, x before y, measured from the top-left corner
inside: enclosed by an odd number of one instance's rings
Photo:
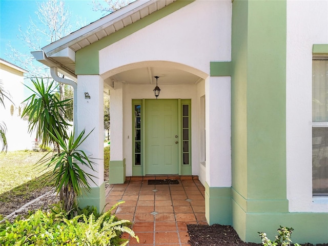
[[[178,100],[146,100],[146,175],[178,174]]]

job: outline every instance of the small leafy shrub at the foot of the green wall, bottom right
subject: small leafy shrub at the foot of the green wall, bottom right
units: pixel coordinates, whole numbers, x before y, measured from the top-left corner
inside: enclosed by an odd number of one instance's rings
[[[262,244],[264,246],[276,246],[276,245],[281,245],[281,246],[290,246],[291,245],[291,235],[294,231],[293,228],[288,228],[288,227],[282,227],[277,230],[278,235],[276,235],[276,240],[271,241],[268,237],[267,234],[264,232],[259,232],[260,237],[262,239]],[[301,246],[298,243],[295,243],[294,246]]]

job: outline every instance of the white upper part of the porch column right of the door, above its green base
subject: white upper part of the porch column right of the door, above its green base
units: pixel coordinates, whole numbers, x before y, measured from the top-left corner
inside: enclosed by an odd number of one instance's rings
[[[209,77],[206,93],[206,182],[231,187],[230,77]]]

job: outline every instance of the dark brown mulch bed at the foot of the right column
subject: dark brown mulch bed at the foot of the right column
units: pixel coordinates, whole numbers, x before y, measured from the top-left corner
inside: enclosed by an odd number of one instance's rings
[[[231,226],[213,224],[188,224],[189,244],[191,246],[260,246],[261,243],[243,242]],[[303,246],[314,246],[306,243]],[[328,246],[328,243],[317,244],[317,246]]]

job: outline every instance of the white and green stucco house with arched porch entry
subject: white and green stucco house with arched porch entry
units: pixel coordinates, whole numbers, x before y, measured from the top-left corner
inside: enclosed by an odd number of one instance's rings
[[[138,0],[33,54],[76,81],[74,124],[94,129],[81,204],[105,204],[105,92],[110,183],[198,175],[209,224],[328,241],[328,1]]]

